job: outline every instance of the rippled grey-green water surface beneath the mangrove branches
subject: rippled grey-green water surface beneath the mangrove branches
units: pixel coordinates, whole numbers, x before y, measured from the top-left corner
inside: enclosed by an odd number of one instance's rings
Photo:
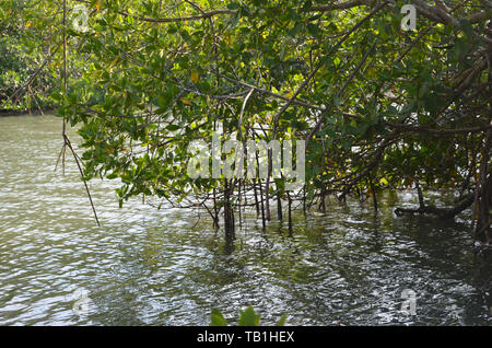
[[[97,228],[74,162],[54,172],[60,129],[0,118],[2,325],[207,325],[211,308],[233,318],[248,304],[263,324],[492,324],[491,259],[475,254],[468,222],[395,218],[397,202],[417,202],[408,193],[382,197],[377,217],[356,201],[297,213],[292,237],[249,214],[226,253],[206,213],[119,209],[116,182],[91,183]],[[405,289],[414,316],[400,311]]]

